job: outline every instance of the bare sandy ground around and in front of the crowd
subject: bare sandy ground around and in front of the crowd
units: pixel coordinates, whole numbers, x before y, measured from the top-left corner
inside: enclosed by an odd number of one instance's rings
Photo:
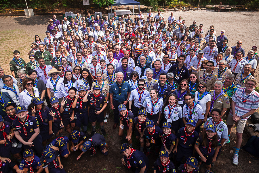
[[[74,13],[75,12],[76,11],[74,11]],[[155,14],[156,13],[154,13],[154,15]],[[144,15],[146,16],[146,14]],[[170,16],[170,11],[163,12],[162,15],[167,20]],[[245,49],[245,54],[247,54],[248,50],[251,50],[252,46],[259,46],[259,38],[256,34],[259,26],[258,12],[214,12],[204,10],[174,12],[176,19],[178,19],[180,15],[182,16],[182,19],[186,21],[186,26],[190,26],[193,23],[193,20],[196,20],[197,25],[203,24],[203,29],[205,31],[209,30],[211,25],[214,25],[217,34],[220,34],[221,30],[225,30],[225,35],[229,40],[228,46],[235,46],[238,40],[242,40],[242,48]],[[38,34],[43,40],[45,31],[47,30],[47,21],[51,17],[52,15],[0,17],[0,66],[5,70],[5,74],[11,74],[9,71],[9,62],[13,58],[12,52],[14,50],[19,50],[21,52],[21,58],[26,62],[29,61],[28,51],[30,50],[31,43],[34,41],[34,36],[35,34]],[[57,17],[58,20],[62,18],[61,15]],[[256,73],[256,78],[258,79],[258,72]],[[122,155],[119,155],[121,141],[118,137],[118,128],[113,130],[112,126],[113,116],[108,118],[108,123],[105,125],[107,132],[106,141],[111,147],[109,155],[104,157],[101,155],[100,151],[98,151],[97,155],[90,159],[89,153],[85,153],[80,161],[76,162],[75,159],[80,152],[73,153],[70,155],[69,159],[62,159],[62,164],[64,165],[66,172],[129,172],[129,170],[123,168],[120,161]],[[248,137],[246,133],[244,133],[243,136],[242,145],[245,145]],[[234,166],[232,164],[234,150],[232,147],[235,146],[235,140],[235,128],[233,128],[231,143],[223,147],[221,156],[215,166],[212,167],[212,171],[234,172],[235,170],[235,172],[258,172],[258,160],[253,160],[251,158],[252,155],[242,149],[239,152],[239,165]],[[137,146],[138,142],[134,142],[133,146]],[[151,154],[149,164],[150,169],[148,172],[153,172],[152,164],[154,161],[155,157]],[[104,168],[106,170],[104,170]],[[204,169],[201,168],[200,171],[204,172]]]

